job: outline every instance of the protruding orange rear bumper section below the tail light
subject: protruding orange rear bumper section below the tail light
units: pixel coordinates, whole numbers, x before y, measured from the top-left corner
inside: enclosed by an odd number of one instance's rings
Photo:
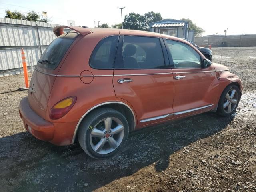
[[[52,140],[54,136],[54,124],[38,116],[28,105],[27,97],[24,97],[20,101],[19,111],[28,132],[40,140]]]

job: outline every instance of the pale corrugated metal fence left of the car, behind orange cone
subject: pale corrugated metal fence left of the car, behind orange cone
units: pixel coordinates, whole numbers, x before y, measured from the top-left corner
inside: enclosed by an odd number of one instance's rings
[[[0,76],[22,71],[21,48],[28,66],[36,65],[41,53],[56,38],[58,24],[0,18]]]

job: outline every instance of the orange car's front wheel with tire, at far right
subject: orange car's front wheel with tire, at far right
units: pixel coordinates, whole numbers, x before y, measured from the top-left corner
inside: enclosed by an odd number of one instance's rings
[[[236,111],[240,101],[240,90],[236,85],[227,86],[220,96],[217,114],[230,116]]]

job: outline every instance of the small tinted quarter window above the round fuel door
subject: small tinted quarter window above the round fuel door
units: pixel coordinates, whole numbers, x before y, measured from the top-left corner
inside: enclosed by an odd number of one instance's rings
[[[117,43],[118,35],[101,40],[92,52],[90,66],[96,69],[113,69]]]

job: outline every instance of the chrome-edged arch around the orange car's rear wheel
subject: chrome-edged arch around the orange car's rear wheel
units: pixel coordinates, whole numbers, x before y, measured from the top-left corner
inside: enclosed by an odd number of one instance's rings
[[[129,125],[129,132],[135,130],[136,127],[136,118],[135,118],[135,114],[134,111],[132,110],[132,108],[130,106],[128,106],[128,104],[124,103],[124,102],[120,102],[120,101],[110,101],[110,102],[104,102],[101,104],[98,104],[92,108],[90,108],[89,110],[87,110],[84,115],[80,118],[80,120],[78,121],[77,125],[76,125],[76,129],[74,131],[73,134],[73,139],[72,139],[72,144],[74,143],[74,141],[76,140],[76,135],[77,135],[77,131],[78,128],[82,122],[82,120],[88,115],[90,114],[90,112],[92,112],[95,109],[98,108],[103,108],[103,107],[108,107],[108,108],[113,108],[117,111],[119,111],[120,113],[122,113],[125,117],[126,120],[128,121],[128,125]]]

